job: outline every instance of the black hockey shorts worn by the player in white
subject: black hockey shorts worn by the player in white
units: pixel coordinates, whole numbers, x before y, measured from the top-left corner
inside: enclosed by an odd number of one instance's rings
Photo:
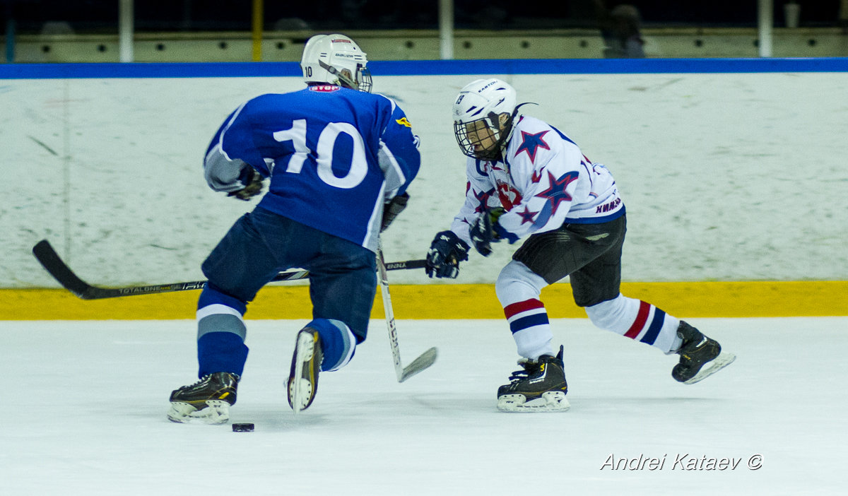
[[[548,284],[571,276],[574,303],[589,307],[621,292],[627,216],[603,224],[563,224],[529,237],[512,259]]]

